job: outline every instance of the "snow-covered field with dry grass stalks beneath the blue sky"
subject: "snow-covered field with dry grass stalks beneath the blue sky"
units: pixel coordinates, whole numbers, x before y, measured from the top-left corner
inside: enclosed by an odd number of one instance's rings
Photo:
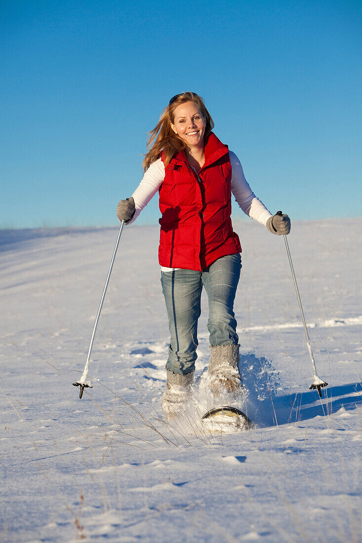
[[[0,540],[361,541],[360,219],[292,223],[321,377],[313,381],[282,237],[235,223],[235,313],[255,427],[212,434],[207,300],[188,416],[161,413],[168,329],[158,228],[123,231],[80,377],[114,229],[2,231]],[[205,374],[204,374],[205,375]]]

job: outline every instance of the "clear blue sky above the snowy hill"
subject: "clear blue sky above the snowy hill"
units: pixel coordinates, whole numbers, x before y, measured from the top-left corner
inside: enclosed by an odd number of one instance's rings
[[[116,225],[147,132],[185,90],[273,213],[360,216],[361,14],[358,1],[2,2],[0,228]],[[158,218],[156,196],[138,222]]]

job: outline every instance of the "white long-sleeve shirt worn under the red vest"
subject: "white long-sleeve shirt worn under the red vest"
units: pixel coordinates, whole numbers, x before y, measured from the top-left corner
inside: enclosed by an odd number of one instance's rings
[[[229,151],[230,164],[232,166],[231,190],[239,207],[246,215],[258,223],[266,225],[267,219],[272,216],[263,204],[253,193],[245,179],[244,171],[238,157]],[[128,224],[133,223],[141,213],[143,207],[154,197],[165,178],[165,165],[161,159],[152,162],[151,166],[143,175],[142,181],[136,188],[132,197],[136,211]],[[163,271],[171,271],[176,268],[161,268]]]

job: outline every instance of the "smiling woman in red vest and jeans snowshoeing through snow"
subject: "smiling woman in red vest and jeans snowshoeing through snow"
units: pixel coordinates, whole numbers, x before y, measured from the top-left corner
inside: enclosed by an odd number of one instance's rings
[[[145,174],[132,197],[117,205],[117,218],[133,222],[159,191],[159,263],[171,342],[162,407],[182,411],[191,394],[197,358],[201,291],[209,300],[210,387],[215,395],[242,386],[233,306],[241,246],[233,231],[232,193],[241,209],[277,235],[288,234],[288,215],[274,215],[255,197],[238,157],[211,131],[213,119],[194,92],[171,98],[150,132]]]

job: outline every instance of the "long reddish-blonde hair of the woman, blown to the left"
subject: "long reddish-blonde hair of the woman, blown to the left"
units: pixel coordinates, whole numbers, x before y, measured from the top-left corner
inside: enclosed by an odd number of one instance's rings
[[[171,104],[168,104],[167,108],[161,112],[159,122],[154,129],[149,132],[147,138],[147,153],[142,162],[144,172],[151,166],[152,162],[158,159],[162,151],[164,153],[165,166],[167,166],[168,162],[170,162],[172,156],[177,153],[177,151],[185,149],[185,143],[171,128],[171,123],[174,124],[174,111],[178,105],[184,104],[185,102],[195,102],[199,112],[205,119],[206,127],[204,138],[206,138],[214,128],[214,121],[208,110],[205,108],[204,100],[201,96],[198,96],[195,92],[183,92],[182,94],[179,94],[179,96],[174,99]]]

